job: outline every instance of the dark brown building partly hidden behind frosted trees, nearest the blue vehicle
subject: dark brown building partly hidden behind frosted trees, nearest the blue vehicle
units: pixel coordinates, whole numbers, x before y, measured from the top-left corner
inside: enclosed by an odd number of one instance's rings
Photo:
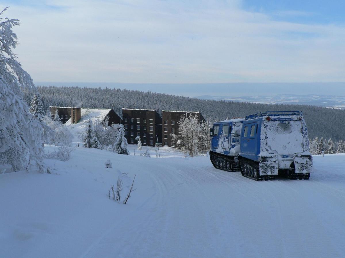
[[[175,147],[171,134],[178,135],[178,121],[181,117],[197,116],[200,123],[205,120],[200,112],[193,111],[162,111],[162,146]]]

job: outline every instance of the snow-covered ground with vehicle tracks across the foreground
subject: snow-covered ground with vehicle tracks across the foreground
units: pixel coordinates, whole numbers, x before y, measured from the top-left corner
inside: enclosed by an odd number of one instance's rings
[[[256,182],[214,169],[209,157],[160,154],[170,158],[76,148],[67,162],[46,160],[52,174],[0,174],[0,256],[345,254],[345,155],[314,156],[309,180]],[[134,175],[128,203],[109,200],[118,176],[125,196]]]

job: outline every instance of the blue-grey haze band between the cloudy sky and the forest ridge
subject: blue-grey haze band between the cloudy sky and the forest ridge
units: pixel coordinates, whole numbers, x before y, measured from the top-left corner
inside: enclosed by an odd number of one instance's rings
[[[197,97],[210,96],[253,96],[253,95],[337,95],[345,96],[345,82],[339,83],[105,83],[105,82],[34,82],[37,86],[77,86],[119,88],[150,91],[163,94]]]

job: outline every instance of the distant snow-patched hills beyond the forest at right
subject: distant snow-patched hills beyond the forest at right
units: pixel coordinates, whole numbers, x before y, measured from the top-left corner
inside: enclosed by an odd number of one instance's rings
[[[207,100],[223,100],[223,101],[239,101],[260,104],[298,104],[298,105],[312,105],[319,107],[329,107],[345,109],[345,96],[333,95],[296,95],[296,94],[279,94],[273,96],[211,96],[202,95],[195,98]]]

